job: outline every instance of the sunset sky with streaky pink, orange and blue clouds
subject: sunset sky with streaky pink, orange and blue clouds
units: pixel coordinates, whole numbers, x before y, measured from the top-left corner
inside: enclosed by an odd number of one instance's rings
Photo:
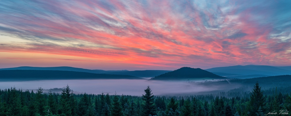
[[[290,0],[0,0],[0,68],[291,66]]]

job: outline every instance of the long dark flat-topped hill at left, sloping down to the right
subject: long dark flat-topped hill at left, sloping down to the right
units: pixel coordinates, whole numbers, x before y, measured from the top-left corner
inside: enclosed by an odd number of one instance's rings
[[[130,75],[96,74],[63,70],[0,70],[0,80],[143,79]]]

